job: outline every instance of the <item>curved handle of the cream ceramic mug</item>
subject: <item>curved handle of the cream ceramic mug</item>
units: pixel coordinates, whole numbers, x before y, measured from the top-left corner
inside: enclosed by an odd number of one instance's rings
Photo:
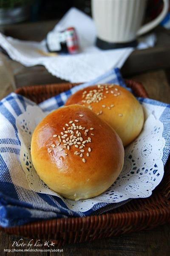
[[[156,17],[154,20],[150,21],[149,23],[145,24],[144,26],[142,26],[136,33],[136,35],[143,35],[144,33],[150,31],[151,29],[153,29],[154,27],[156,27],[165,17],[165,15],[168,12],[168,8],[169,8],[169,0],[163,0],[164,2],[164,7],[163,10],[161,11],[161,13],[159,14],[158,17]]]

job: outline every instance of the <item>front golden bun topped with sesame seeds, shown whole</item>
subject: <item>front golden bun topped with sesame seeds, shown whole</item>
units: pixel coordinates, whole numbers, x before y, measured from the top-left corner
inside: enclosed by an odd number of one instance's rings
[[[31,158],[51,190],[73,200],[98,196],[118,177],[124,148],[116,132],[90,109],[59,108],[34,130]]]

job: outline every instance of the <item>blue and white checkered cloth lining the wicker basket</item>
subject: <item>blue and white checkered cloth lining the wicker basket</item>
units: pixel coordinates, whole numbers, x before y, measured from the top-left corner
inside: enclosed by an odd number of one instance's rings
[[[113,69],[94,81],[74,87],[42,102],[39,106],[44,111],[57,109],[65,104],[68,97],[74,92],[96,83],[116,83],[126,86],[119,69]],[[170,154],[170,105],[150,99],[139,98],[139,100],[164,108],[159,119],[164,124],[163,136],[166,144],[162,160],[165,165]],[[64,202],[56,196],[36,193],[29,187],[15,184],[14,181],[21,178],[17,176],[19,175],[18,168],[21,166],[19,160],[20,141],[15,121],[18,115],[25,112],[28,105],[35,105],[35,103],[15,93],[11,93],[0,102],[0,225],[11,227],[41,219],[89,216],[115,208],[115,204],[99,203],[87,212],[74,212],[69,210]],[[24,172],[22,182],[26,182]],[[117,206],[119,205],[121,203],[117,204]]]

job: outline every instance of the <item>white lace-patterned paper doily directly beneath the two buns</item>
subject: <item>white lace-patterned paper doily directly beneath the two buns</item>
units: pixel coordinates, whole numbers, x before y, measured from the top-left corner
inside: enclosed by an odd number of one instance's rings
[[[147,109],[144,109],[145,114]],[[162,137],[163,124],[151,113],[139,137],[125,149],[125,164],[114,184],[102,195],[95,198],[73,201],[59,196],[40,180],[31,162],[31,135],[37,124],[48,113],[38,106],[28,106],[26,112],[18,116],[16,124],[21,142],[20,161],[31,190],[62,198],[69,209],[87,211],[99,202],[118,203],[129,198],[144,198],[160,183],[164,174],[162,162],[165,145]]]

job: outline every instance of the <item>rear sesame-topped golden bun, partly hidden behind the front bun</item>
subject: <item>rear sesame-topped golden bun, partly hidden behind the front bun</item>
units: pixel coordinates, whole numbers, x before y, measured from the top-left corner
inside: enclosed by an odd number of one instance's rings
[[[95,93],[100,93],[99,96],[102,100],[91,102],[95,101]],[[88,94],[90,94],[89,97]],[[70,104],[81,104],[90,107],[92,111],[99,115],[99,118],[115,129],[124,146],[127,146],[139,135],[144,124],[144,113],[141,104],[131,92],[122,86],[110,84],[89,86],[72,95],[65,106]]]

